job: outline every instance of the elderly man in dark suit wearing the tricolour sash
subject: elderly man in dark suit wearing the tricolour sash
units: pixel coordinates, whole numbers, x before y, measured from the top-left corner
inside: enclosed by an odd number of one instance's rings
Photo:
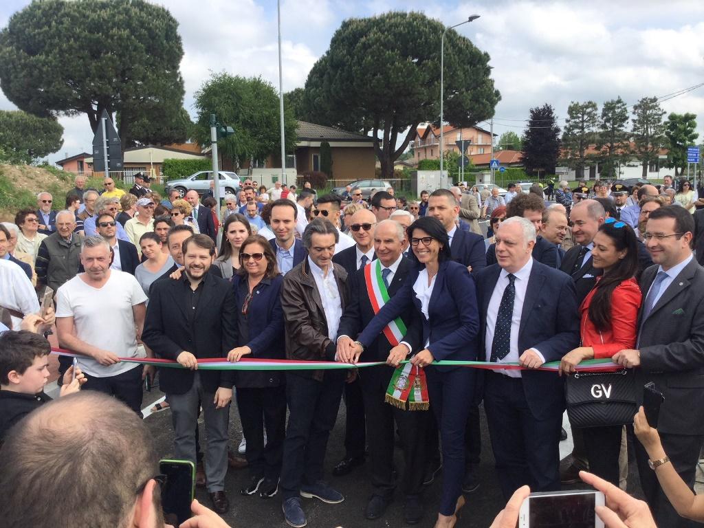
[[[367,213],[367,215],[371,215],[372,219],[374,218],[370,211],[360,210],[353,215],[352,225],[358,225],[358,222],[365,220],[366,217],[358,216],[360,213]],[[354,234],[353,231],[353,236]],[[382,280],[385,281],[384,287],[388,284],[389,297],[393,297],[396,291],[401,288],[412,268],[410,260],[403,257],[401,252],[404,237],[403,228],[394,220],[382,220],[374,230],[372,251],[376,251],[379,260],[378,264],[372,263],[370,272],[376,274],[377,265],[380,266],[379,273],[381,273]],[[338,256],[340,254],[338,253]],[[371,278],[370,274],[370,280]],[[356,339],[375,315],[363,268],[352,270],[348,275],[348,291],[350,303],[345,308],[338,330],[337,360],[339,361],[348,359],[344,356],[346,344]],[[401,315],[401,320],[408,329],[403,337],[404,341],[409,332],[417,334],[418,329],[422,326],[420,322],[414,322],[414,318],[415,310],[413,306],[408,306],[406,312]],[[420,335],[416,335],[413,341],[420,341]],[[427,413],[396,408],[384,401],[386,388],[389,386],[391,376],[398,364],[396,361],[406,359],[409,352],[406,345],[403,344],[400,350],[398,347],[394,348],[396,344],[395,341],[393,343],[389,341],[386,334],[379,334],[379,337],[360,356],[361,361],[386,361],[390,365],[370,367],[359,377],[359,383],[363,389],[360,392],[364,396],[367,425],[371,433],[369,435],[371,461],[369,471],[373,491],[365,509],[365,517],[370,520],[381,517],[394,494],[396,484],[392,473],[394,470],[395,420],[398,425],[398,433],[401,436],[405,463],[401,468],[400,475],[400,481],[403,483],[402,491],[406,499],[403,513],[407,523],[415,524],[422,516],[419,495],[422,491],[425,466],[424,428],[427,422]],[[411,345],[411,349],[413,349],[413,345]]]

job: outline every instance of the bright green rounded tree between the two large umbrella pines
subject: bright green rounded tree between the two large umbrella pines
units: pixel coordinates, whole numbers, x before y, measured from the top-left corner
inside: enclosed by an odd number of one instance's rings
[[[234,129],[234,134],[218,141],[218,151],[238,165],[244,161],[264,161],[280,156],[279,94],[261,77],[239,77],[228,73],[210,76],[196,92],[198,118],[195,139],[210,144],[210,114]],[[284,109],[286,151],[296,146],[296,119]]]

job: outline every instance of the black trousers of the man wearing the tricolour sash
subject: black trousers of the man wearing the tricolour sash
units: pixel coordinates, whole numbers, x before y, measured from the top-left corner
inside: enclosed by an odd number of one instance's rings
[[[369,435],[370,477],[373,494],[386,499],[394,494],[394,422],[401,436],[403,467],[401,491],[405,496],[420,495],[425,468],[425,425],[431,413],[403,410],[386,403],[386,388],[394,373],[393,367],[367,367],[360,374]],[[347,410],[349,413],[349,409]]]

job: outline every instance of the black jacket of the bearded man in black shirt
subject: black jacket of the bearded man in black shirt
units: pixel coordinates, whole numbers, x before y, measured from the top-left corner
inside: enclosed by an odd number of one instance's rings
[[[175,360],[182,351],[196,358],[223,358],[237,344],[237,308],[234,291],[225,279],[206,273],[193,325],[189,324],[191,287],[186,277],[157,280],[149,291],[142,340],[158,358]],[[184,394],[191,388],[194,372],[184,368],[159,369],[161,390]],[[232,389],[232,370],[199,370],[203,389]]]

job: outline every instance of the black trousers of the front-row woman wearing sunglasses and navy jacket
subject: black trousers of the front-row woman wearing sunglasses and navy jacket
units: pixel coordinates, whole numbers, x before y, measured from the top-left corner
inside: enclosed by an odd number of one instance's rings
[[[235,394],[242,432],[247,439],[245,456],[249,473],[252,477],[277,479],[281,473],[286,436],[286,386],[238,388]]]

